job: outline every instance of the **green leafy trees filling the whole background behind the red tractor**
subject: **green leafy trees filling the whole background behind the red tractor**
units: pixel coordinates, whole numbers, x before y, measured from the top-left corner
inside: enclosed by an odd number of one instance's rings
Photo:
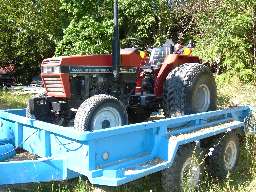
[[[119,0],[121,46],[159,46],[182,33],[196,40],[195,55],[251,81],[255,12],[254,0],[174,0],[172,9],[168,0]],[[110,53],[112,31],[113,0],[0,0],[0,66],[15,64],[25,81],[54,52]]]

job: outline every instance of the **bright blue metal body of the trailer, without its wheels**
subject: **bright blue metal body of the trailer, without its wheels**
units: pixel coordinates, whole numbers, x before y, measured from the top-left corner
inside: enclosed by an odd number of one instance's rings
[[[83,133],[28,119],[24,110],[0,111],[0,139],[48,159],[0,163],[0,170],[10,178],[1,174],[0,184],[63,180],[82,174],[93,184],[121,185],[170,167],[180,145],[243,130],[250,111],[245,106]],[[31,174],[16,177],[8,172],[14,169],[27,169]]]

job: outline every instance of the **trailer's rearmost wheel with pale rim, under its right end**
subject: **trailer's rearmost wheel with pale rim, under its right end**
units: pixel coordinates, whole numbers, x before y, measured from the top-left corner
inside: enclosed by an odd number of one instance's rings
[[[216,139],[221,140],[216,144],[212,155],[207,158],[209,173],[214,177],[225,178],[229,172],[234,171],[239,159],[240,144],[235,133],[221,136]]]

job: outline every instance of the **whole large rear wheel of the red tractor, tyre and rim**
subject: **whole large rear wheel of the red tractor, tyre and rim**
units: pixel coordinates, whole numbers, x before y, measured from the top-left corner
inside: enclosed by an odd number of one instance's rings
[[[164,83],[166,116],[199,113],[216,109],[216,84],[203,64],[186,63],[176,67]]]

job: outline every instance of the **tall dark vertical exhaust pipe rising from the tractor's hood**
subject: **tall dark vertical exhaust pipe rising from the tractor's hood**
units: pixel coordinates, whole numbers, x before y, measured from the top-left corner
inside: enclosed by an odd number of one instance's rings
[[[114,33],[112,42],[112,66],[113,75],[116,80],[119,79],[120,72],[120,39],[118,26],[118,0],[114,0]]]

